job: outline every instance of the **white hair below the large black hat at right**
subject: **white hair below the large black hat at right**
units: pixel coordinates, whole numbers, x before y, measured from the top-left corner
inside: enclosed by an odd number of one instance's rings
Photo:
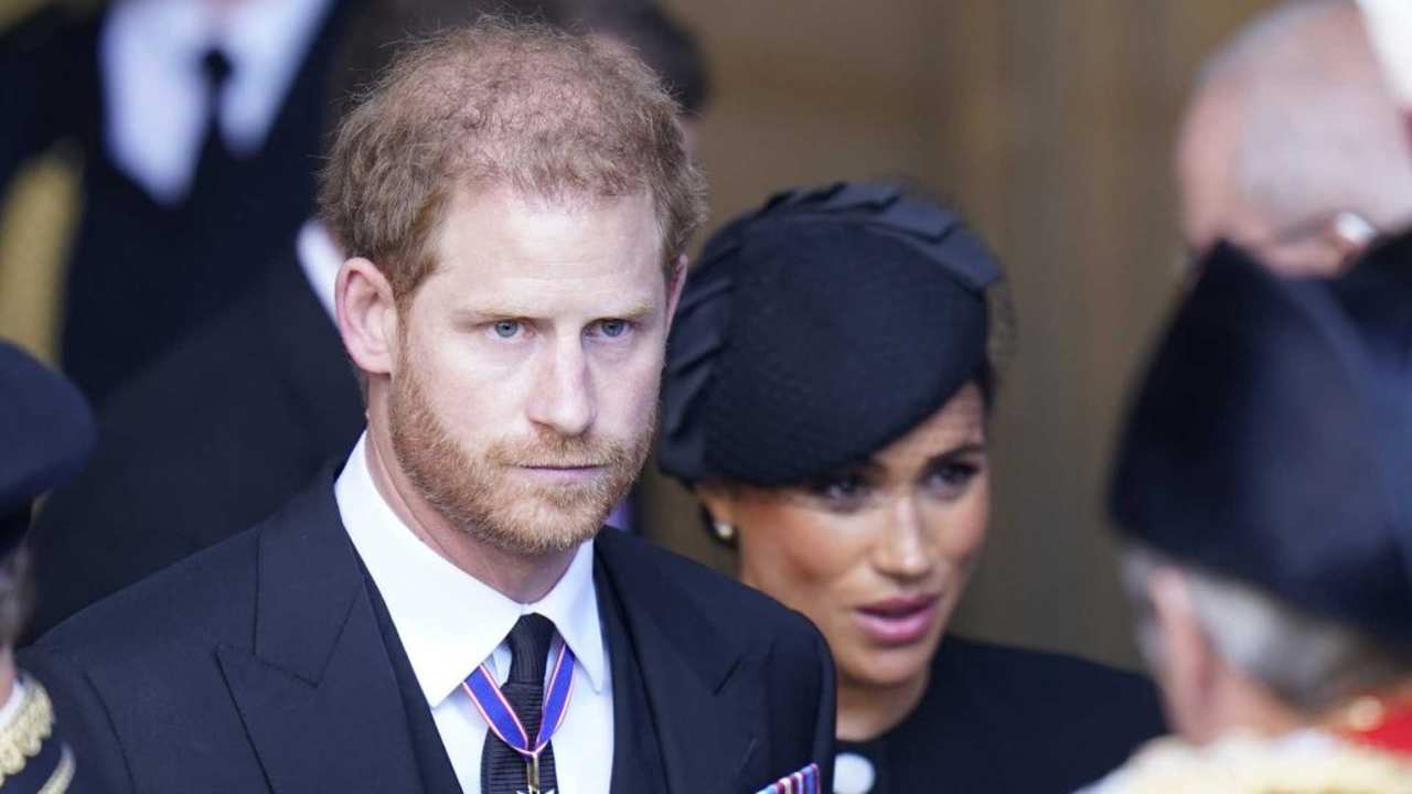
[[[1130,544],[1121,561],[1137,613],[1138,646],[1154,668],[1161,668],[1163,651],[1147,583],[1154,569],[1169,567],[1192,593],[1196,619],[1216,653],[1305,713],[1319,713],[1412,672],[1412,648],[1312,617],[1228,576],[1178,562],[1142,544]]]

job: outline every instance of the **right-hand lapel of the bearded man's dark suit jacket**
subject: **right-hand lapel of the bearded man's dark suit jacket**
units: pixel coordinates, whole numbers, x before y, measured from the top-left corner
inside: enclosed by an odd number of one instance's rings
[[[614,743],[633,730],[657,730],[666,788],[741,791],[764,764],[762,651],[750,653],[716,629],[696,605],[668,598],[676,585],[650,564],[635,564],[631,544],[604,530],[594,548],[621,608],[637,654],[652,725],[616,725]],[[611,653],[626,650],[610,648]],[[614,681],[614,692],[618,682]]]

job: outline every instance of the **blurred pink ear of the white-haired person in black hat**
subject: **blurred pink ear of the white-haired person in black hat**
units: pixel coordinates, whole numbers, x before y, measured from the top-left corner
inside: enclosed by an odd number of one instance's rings
[[[1180,571],[1158,567],[1148,576],[1148,596],[1162,648],[1158,677],[1168,722],[1192,740],[1206,740],[1220,661],[1196,612],[1192,589]]]

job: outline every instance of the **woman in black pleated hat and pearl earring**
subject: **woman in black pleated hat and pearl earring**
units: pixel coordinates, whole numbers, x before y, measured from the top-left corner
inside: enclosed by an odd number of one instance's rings
[[[949,212],[842,184],[719,232],[681,301],[658,461],[827,639],[842,794],[1072,791],[1159,729],[1135,675],[942,641],[987,533],[998,280]]]

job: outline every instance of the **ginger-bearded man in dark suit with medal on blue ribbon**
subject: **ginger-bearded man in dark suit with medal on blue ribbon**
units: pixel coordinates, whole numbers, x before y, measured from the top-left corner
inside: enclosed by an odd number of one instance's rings
[[[648,449],[702,194],[675,105],[624,49],[483,24],[401,54],[321,194],[367,431],[268,521],[31,648],[90,773],[508,794],[799,770],[827,790],[819,634],[594,538]]]

